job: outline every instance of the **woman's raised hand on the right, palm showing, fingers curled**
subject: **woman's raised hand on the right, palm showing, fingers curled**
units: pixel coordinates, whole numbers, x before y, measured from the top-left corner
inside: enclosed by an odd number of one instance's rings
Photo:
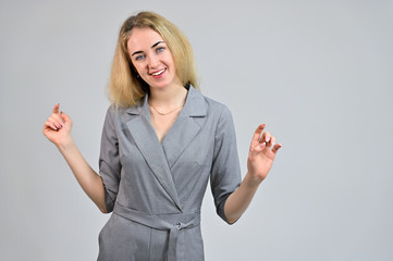
[[[263,132],[266,124],[259,125],[255,130],[249,147],[247,169],[253,183],[260,184],[268,175],[273,164],[281,144],[275,144],[275,138],[268,132]]]

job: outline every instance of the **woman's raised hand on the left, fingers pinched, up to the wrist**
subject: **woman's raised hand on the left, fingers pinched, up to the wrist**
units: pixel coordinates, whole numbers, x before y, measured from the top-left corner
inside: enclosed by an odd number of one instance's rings
[[[44,135],[58,147],[72,140],[72,121],[65,113],[59,113],[59,103],[53,107],[53,112],[45,122],[42,129]]]

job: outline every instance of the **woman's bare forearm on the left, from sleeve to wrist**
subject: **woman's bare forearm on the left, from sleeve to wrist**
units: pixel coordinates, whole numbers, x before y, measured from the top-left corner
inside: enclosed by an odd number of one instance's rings
[[[76,147],[74,140],[57,146],[64,157],[76,181],[102,213],[107,213],[105,187],[101,177],[91,169]]]

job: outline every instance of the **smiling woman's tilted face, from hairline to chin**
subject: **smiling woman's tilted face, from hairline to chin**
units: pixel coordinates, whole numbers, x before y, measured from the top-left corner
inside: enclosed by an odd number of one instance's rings
[[[133,28],[127,41],[131,61],[150,88],[165,88],[181,84],[176,76],[171,50],[151,28]]]

